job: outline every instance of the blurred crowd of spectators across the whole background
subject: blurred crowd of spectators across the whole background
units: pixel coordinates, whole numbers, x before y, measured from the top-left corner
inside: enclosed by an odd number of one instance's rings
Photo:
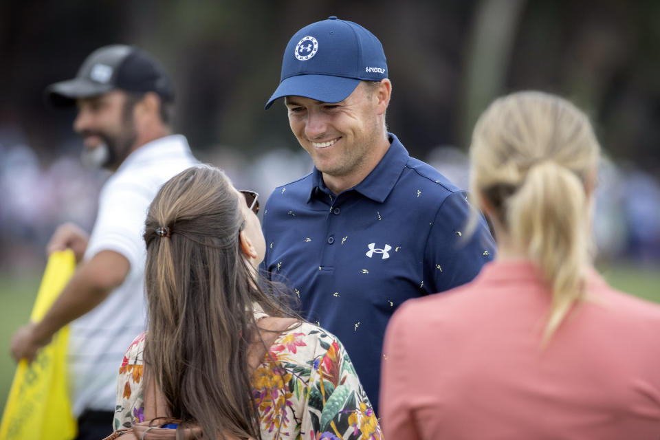
[[[98,191],[108,175],[87,170],[73,153],[46,163],[30,146],[0,139],[0,270],[30,270],[45,261],[45,245],[56,226],[72,221],[89,231]],[[72,146],[71,151],[82,148]],[[194,147],[193,147],[194,149]],[[309,173],[309,155],[280,148],[257,157],[217,146],[200,155],[225,170],[239,188],[260,193]],[[434,148],[426,159],[467,188],[467,155],[453,146]],[[599,173],[593,234],[599,260],[660,261],[660,183],[632,164],[606,159]]]

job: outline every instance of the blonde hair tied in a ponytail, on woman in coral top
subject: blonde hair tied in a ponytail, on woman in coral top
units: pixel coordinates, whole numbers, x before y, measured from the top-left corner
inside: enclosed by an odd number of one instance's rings
[[[599,157],[591,124],[562,98],[511,94],[479,118],[470,157],[471,192],[489,203],[550,287],[547,342],[584,297],[591,263],[586,192]]]

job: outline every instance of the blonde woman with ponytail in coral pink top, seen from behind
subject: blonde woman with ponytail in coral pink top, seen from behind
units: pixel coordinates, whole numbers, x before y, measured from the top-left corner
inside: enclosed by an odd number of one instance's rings
[[[549,94],[505,96],[478,120],[470,155],[498,255],[391,320],[386,437],[660,438],[660,307],[591,266],[599,145],[584,113]]]

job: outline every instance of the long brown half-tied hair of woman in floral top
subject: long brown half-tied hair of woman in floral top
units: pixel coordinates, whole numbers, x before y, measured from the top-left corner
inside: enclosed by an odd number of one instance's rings
[[[171,415],[208,439],[261,438],[248,368],[250,344],[259,338],[253,305],[292,316],[259,287],[241,252],[239,203],[221,170],[188,168],[158,192],[144,232],[144,360]]]

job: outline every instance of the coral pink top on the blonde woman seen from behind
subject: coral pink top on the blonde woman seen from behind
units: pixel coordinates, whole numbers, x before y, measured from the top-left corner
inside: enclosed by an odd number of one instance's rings
[[[660,307],[592,271],[547,347],[549,289],[531,263],[409,300],[390,321],[388,439],[660,439]]]

